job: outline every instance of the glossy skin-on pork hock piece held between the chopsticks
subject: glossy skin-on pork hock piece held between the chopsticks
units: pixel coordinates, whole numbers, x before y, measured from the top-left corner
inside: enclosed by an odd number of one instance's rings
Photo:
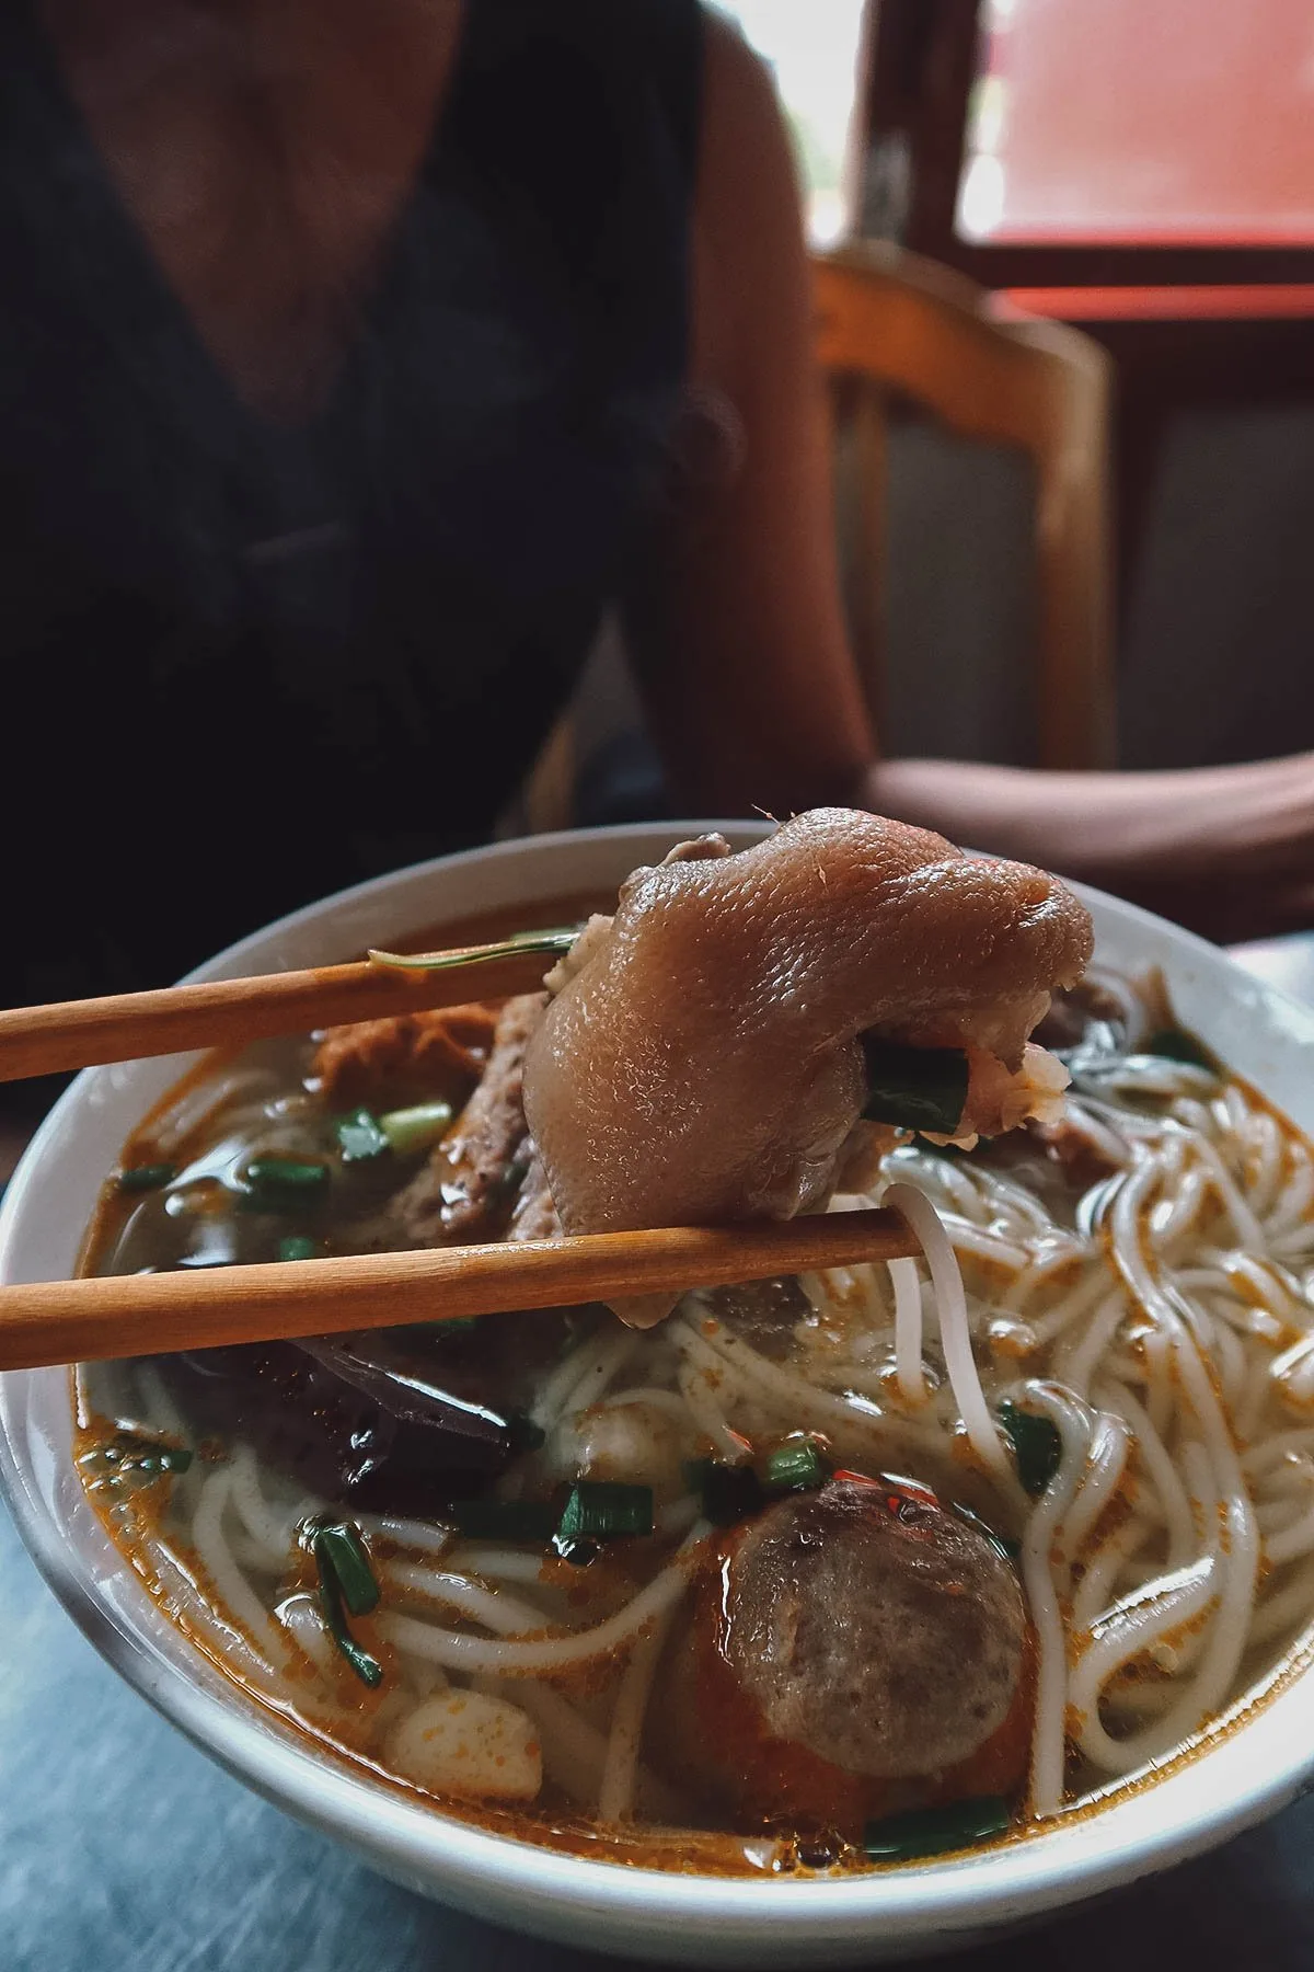
[[[865,1114],[963,1144],[1052,1116],[1068,1077],[1028,1035],[1089,952],[1056,878],[877,814],[682,844],[548,976],[524,1108],[563,1229],[788,1219]]]

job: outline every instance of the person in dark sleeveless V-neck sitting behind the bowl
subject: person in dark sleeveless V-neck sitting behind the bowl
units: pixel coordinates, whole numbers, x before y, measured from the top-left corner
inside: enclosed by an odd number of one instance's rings
[[[8,1004],[489,836],[615,607],[672,812],[1308,913],[1314,757],[883,761],[770,79],[695,0],[0,10]]]

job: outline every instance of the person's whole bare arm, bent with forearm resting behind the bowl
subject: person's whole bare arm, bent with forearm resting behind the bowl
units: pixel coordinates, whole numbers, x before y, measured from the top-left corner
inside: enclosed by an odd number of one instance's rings
[[[737,408],[743,461],[691,497],[634,621],[636,669],[688,812],[857,803],[1196,923],[1310,915],[1314,755],[1164,773],[877,757],[847,647],[798,185],[772,83],[709,18],[691,381]],[[1247,889],[1229,917],[1227,885]],[[1210,895],[1219,907],[1210,907]]]

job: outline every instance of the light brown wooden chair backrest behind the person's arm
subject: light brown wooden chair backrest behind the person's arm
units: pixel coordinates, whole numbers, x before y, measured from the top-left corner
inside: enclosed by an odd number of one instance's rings
[[[910,400],[948,430],[1028,454],[1038,590],[1040,767],[1107,767],[1109,361],[1087,335],[991,310],[987,290],[877,243],[816,260],[818,353],[851,461],[841,515],[853,647],[877,720],[883,676],[887,416]]]

